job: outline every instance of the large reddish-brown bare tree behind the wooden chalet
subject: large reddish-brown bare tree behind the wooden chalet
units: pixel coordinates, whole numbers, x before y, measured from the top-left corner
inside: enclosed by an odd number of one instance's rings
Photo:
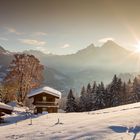
[[[28,92],[40,86],[43,80],[43,65],[33,55],[15,54],[14,60],[9,66],[9,73],[5,82],[13,82],[17,85],[17,100],[24,103]]]

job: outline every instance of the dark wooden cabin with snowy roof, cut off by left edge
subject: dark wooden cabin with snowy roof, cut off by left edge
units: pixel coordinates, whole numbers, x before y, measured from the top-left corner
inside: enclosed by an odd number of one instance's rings
[[[5,114],[12,114],[13,108],[7,104],[0,102],[0,122],[2,120],[2,116]]]

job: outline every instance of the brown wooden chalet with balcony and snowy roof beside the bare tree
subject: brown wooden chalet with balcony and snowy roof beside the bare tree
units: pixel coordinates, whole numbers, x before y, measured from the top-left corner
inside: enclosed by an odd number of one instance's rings
[[[58,100],[61,98],[61,92],[50,88],[42,87],[31,91],[28,98],[33,99],[34,113],[56,113],[58,112]]]

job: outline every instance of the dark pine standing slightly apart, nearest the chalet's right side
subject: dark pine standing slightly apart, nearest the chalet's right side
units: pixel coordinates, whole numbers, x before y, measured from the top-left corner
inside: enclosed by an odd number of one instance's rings
[[[67,96],[66,102],[66,112],[76,112],[77,111],[77,104],[75,101],[75,97],[73,96],[73,91],[70,89],[69,94]]]

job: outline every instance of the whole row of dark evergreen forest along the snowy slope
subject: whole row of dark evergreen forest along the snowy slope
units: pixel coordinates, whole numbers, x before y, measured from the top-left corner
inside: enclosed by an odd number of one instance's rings
[[[133,81],[123,82],[121,78],[114,75],[108,85],[103,82],[97,84],[96,81],[82,87],[80,97],[74,97],[73,90],[70,89],[67,101],[66,112],[93,111],[119,105],[125,105],[140,101],[140,76]]]

